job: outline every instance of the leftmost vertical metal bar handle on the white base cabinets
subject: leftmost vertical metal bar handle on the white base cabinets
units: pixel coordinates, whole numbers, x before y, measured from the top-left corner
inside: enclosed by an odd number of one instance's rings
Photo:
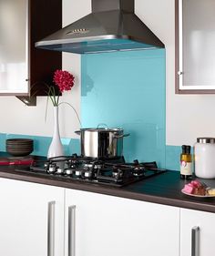
[[[56,201],[47,205],[47,256],[55,256],[55,211]]]

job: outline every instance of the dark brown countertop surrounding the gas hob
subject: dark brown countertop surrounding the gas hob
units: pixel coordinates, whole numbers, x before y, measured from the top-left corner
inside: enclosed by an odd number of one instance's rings
[[[79,189],[132,200],[176,206],[192,210],[215,212],[215,198],[196,198],[181,193],[184,184],[189,181],[179,179],[179,172],[169,170],[156,177],[144,179],[125,186],[113,188],[106,185],[88,184],[56,177],[41,176],[34,173],[19,172],[13,166],[1,166],[0,178],[18,179],[67,189]],[[215,179],[200,179],[211,188],[215,188]]]

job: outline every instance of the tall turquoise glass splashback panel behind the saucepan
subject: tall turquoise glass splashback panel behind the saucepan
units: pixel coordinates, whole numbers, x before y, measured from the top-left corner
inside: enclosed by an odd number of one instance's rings
[[[83,128],[123,128],[127,161],[165,167],[165,50],[83,55],[81,76]]]

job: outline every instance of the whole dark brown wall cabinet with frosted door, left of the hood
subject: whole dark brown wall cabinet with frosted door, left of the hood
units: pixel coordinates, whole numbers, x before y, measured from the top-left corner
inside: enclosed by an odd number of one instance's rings
[[[36,41],[62,27],[62,0],[0,0],[0,95],[36,105],[62,68],[61,53],[36,49]]]

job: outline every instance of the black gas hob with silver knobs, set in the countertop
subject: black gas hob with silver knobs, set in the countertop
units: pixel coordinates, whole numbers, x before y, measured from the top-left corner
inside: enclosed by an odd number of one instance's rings
[[[139,163],[138,160],[134,160],[132,163],[127,163],[124,158],[86,159],[76,154],[70,157],[48,159],[45,162],[34,162],[27,169],[16,170],[30,171],[43,176],[52,175],[56,179],[116,187],[126,186],[166,171],[166,169],[159,169],[156,162]]]

